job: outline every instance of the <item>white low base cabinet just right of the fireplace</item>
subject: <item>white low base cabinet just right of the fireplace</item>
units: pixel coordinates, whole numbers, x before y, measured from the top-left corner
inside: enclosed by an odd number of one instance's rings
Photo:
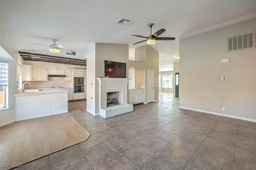
[[[144,102],[144,89],[129,89],[128,103],[135,105]]]

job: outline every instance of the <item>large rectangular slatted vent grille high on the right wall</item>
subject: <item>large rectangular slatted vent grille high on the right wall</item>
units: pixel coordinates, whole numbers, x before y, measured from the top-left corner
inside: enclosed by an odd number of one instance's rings
[[[255,32],[228,37],[228,51],[255,48]]]

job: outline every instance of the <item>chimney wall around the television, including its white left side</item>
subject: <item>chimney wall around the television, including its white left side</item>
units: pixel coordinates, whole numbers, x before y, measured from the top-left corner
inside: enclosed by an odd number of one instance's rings
[[[96,77],[105,76],[105,60],[126,63],[126,77],[128,77],[129,45],[95,43],[95,46],[85,50],[85,56],[87,58],[87,84],[89,84],[87,107],[90,107],[87,111],[96,115],[99,113],[99,82]]]

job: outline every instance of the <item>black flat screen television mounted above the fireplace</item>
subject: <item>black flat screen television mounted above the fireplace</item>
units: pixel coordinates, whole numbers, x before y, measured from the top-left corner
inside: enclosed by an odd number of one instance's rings
[[[105,60],[105,77],[126,78],[126,63]]]

